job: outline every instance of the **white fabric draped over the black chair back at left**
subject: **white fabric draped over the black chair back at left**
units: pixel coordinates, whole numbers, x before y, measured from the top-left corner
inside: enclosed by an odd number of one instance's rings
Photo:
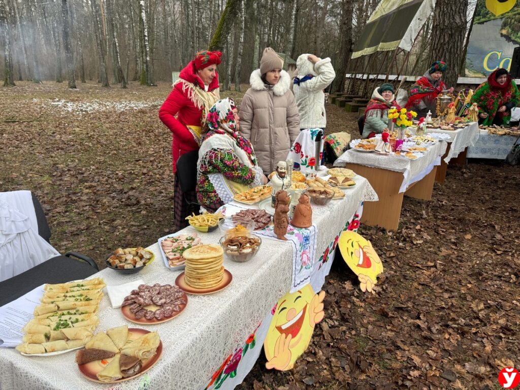
[[[59,253],[38,235],[31,191],[0,193],[0,281]]]

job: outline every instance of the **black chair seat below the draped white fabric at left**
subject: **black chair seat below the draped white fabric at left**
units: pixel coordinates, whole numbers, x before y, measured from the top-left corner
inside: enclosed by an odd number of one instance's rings
[[[98,270],[67,256],[56,256],[22,274],[0,282],[0,306],[16,300],[44,283],[66,283],[85,279]]]

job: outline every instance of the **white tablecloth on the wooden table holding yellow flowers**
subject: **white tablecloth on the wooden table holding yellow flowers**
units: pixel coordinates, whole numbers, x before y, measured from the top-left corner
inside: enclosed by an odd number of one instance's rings
[[[349,149],[334,162],[334,166],[345,166],[346,163],[351,163],[402,172],[403,179],[399,192],[405,192],[412,183],[421,180],[430,173],[434,166],[440,165],[440,157],[444,155],[446,148],[447,144],[445,141],[438,141],[424,152],[423,157],[417,160],[398,157],[393,153],[365,153]]]

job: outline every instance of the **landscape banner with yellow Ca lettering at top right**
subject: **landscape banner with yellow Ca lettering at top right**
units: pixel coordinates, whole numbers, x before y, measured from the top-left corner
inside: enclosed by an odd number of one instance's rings
[[[466,76],[483,77],[511,67],[520,46],[520,2],[478,0],[466,54]]]

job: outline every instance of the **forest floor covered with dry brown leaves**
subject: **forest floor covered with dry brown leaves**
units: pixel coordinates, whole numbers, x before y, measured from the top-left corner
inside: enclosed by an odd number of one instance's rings
[[[158,118],[171,86],[66,87],[0,88],[0,191],[33,191],[55,248],[102,265],[172,231],[171,134]],[[328,132],[359,135],[355,114],[327,115]],[[518,167],[450,166],[431,201],[405,198],[398,231],[361,225],[385,267],[376,294],[336,259],[307,352],[289,372],[262,355],[238,388],[501,388],[499,370],[520,368],[519,193]]]

